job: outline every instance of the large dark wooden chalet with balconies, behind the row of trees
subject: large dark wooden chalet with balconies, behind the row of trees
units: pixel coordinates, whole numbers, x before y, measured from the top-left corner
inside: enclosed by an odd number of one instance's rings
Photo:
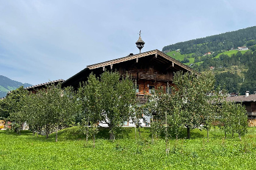
[[[80,82],[87,81],[87,77],[91,72],[99,76],[104,70],[116,70],[120,75],[126,75],[127,73],[132,77],[135,87],[137,88],[138,106],[146,103],[145,95],[151,94],[153,88],[157,89],[158,87],[163,87],[166,89],[166,92],[168,90],[170,92],[170,86],[174,85],[172,84],[174,72],[182,70],[183,72],[199,74],[165,53],[159,50],[152,50],[87,66],[84,70],[81,70],[73,77],[64,81],[62,86],[73,86],[77,89]],[[146,119],[148,123],[150,123],[150,118],[146,117]],[[101,124],[101,126],[104,126],[104,124]],[[126,126],[135,125],[127,122]],[[147,124],[143,124],[143,126],[147,126]]]

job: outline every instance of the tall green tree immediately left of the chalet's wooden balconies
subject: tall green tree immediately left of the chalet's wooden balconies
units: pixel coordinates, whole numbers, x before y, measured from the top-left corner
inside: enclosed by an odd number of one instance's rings
[[[99,95],[101,121],[108,124],[110,140],[115,140],[116,131],[129,120],[135,104],[133,82],[127,76],[121,78],[117,72],[104,72],[100,78]]]

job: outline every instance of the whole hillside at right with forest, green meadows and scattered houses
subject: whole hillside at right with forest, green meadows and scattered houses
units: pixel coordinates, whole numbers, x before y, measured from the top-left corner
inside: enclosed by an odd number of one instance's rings
[[[249,50],[237,50],[246,46]],[[172,58],[199,72],[212,70],[228,92],[256,92],[256,26],[163,47]]]

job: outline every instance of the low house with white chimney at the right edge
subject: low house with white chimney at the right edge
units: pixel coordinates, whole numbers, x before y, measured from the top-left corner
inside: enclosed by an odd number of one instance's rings
[[[247,110],[249,126],[256,126],[256,92],[249,95],[249,92],[246,91],[246,95],[230,96],[226,100],[233,103],[242,103]]]

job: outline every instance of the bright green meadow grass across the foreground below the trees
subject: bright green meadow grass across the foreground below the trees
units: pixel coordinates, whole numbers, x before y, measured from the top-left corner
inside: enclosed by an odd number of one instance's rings
[[[220,129],[212,129],[209,142],[199,129],[191,131],[191,140],[184,139],[184,129],[181,139],[169,141],[169,155],[163,138],[151,144],[149,127],[141,129],[137,141],[130,127],[115,142],[107,140],[107,130],[100,133],[93,148],[77,127],[60,131],[57,143],[54,134],[46,139],[30,131],[0,131],[0,169],[255,169],[255,127],[242,141],[224,139]]]

